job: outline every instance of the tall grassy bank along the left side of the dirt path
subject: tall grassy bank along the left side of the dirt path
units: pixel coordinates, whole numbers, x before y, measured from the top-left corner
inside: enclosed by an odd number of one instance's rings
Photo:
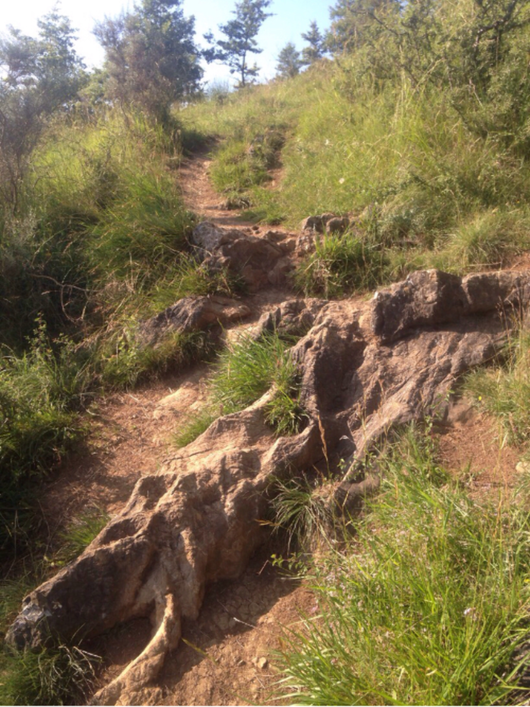
[[[176,157],[172,136],[133,113],[58,118],[19,213],[0,209],[1,551],[35,529],[35,489],[83,436],[90,399],[211,354],[200,333],[155,347],[139,335],[183,296],[238,286],[189,252]]]

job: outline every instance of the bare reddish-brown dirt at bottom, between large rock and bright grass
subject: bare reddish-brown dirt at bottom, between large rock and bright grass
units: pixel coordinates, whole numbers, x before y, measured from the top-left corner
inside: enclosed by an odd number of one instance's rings
[[[235,582],[212,585],[199,621],[184,624],[158,684],[164,707],[239,707],[264,704],[278,680],[281,636],[295,629],[300,612],[314,611],[310,590],[254,557]]]

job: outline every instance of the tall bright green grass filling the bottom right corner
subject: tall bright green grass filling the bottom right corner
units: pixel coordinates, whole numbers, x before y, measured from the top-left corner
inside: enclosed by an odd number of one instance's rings
[[[346,551],[315,561],[316,612],[285,634],[278,697],[300,705],[524,699],[527,503],[472,501],[434,454],[429,438],[406,433]]]

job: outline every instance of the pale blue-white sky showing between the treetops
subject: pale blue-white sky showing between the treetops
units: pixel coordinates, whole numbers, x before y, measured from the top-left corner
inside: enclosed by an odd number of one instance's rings
[[[45,15],[54,5],[54,0],[3,0],[0,11],[0,32],[7,25],[13,25],[25,34],[34,35],[37,31],[35,21]],[[269,10],[274,13],[261,27],[258,36],[259,46],[264,49],[256,57],[261,66],[261,80],[272,78],[276,73],[276,57],[287,42],[293,42],[299,49],[304,45],[300,33],[306,32],[310,22],[316,20],[320,30],[329,27],[329,6],[334,0],[273,0]],[[134,1],[128,0],[62,0],[59,10],[71,19],[73,27],[78,29],[78,54],[85,58],[88,66],[99,66],[103,54],[98,42],[92,35],[95,21],[105,16],[115,16],[122,8],[132,8]],[[213,30],[217,33],[218,25],[230,19],[230,11],[235,0],[184,0],[184,13],[196,18],[197,39]],[[203,42],[204,43],[204,42]],[[225,66],[212,65],[206,69],[206,79],[230,79]]]

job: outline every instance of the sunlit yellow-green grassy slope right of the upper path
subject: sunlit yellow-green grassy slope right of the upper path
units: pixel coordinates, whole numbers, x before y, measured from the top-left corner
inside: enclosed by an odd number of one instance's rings
[[[384,248],[377,281],[418,267],[498,265],[526,247],[524,160],[473,134],[447,93],[405,79],[375,90],[353,71],[348,60],[324,62],[220,104],[186,107],[179,119],[220,138],[213,182],[247,196],[248,216],[290,227],[324,211],[353,216],[356,238]],[[271,189],[266,170],[280,163]]]

